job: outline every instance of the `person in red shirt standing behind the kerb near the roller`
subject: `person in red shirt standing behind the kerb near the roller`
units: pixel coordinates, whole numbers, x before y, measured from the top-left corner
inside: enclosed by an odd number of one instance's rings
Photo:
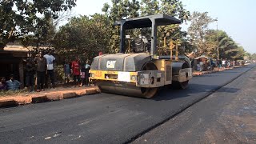
[[[79,86],[80,66],[79,66],[79,58],[78,57],[76,57],[75,60],[72,62],[71,68],[72,68],[72,74],[73,74],[73,78],[74,78],[74,85]]]

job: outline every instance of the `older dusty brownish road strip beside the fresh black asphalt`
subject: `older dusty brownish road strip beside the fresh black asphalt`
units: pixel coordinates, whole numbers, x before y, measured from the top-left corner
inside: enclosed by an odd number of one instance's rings
[[[256,68],[133,143],[256,143]]]

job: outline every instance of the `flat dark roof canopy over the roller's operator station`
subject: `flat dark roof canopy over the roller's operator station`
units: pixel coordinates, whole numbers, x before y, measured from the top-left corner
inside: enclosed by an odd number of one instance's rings
[[[152,21],[155,22],[157,26],[166,26],[171,24],[180,24],[181,20],[177,18],[170,17],[166,14],[155,14],[149,15],[140,18],[130,18],[130,19],[122,19],[121,21],[114,22],[114,26],[124,26],[126,30],[134,29],[134,28],[143,28],[143,27],[151,27]]]

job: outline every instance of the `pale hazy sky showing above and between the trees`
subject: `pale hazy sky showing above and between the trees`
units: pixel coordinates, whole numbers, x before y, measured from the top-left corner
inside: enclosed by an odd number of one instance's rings
[[[77,0],[74,7],[75,15],[90,15],[101,13],[105,2],[111,0]],[[182,0],[186,10],[209,12],[211,18],[218,18],[218,29],[226,31],[238,45],[247,52],[256,53],[256,1],[255,0]],[[185,24],[182,25],[186,30]],[[216,29],[217,23],[210,25]],[[255,42],[256,43],[256,42]]]

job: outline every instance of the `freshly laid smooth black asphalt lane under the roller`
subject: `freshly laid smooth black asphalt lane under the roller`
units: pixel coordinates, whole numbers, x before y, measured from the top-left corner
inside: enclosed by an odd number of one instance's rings
[[[0,143],[136,142],[254,66],[194,77],[188,89],[162,89],[151,99],[94,94],[0,109]]]

